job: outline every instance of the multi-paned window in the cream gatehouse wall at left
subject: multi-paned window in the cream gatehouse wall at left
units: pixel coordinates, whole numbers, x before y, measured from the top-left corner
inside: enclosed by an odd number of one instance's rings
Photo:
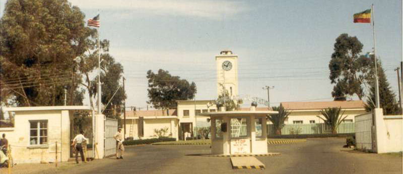
[[[30,124],[29,144],[30,145],[47,144],[47,120],[29,121],[29,124]]]

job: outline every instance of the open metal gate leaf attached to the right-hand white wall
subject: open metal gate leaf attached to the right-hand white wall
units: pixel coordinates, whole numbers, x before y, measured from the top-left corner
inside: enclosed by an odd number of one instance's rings
[[[373,150],[373,123],[372,112],[357,115],[355,117],[356,147],[358,149]]]

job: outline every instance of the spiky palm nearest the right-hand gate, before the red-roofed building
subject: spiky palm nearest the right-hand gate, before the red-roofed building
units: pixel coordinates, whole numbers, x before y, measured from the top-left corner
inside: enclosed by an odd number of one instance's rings
[[[322,119],[324,123],[330,127],[331,134],[337,134],[337,128],[348,116],[346,115],[345,117],[343,117],[344,111],[342,113],[341,111],[341,107],[329,107],[320,110],[320,113],[323,115],[324,119],[319,115],[316,115],[316,117]]]

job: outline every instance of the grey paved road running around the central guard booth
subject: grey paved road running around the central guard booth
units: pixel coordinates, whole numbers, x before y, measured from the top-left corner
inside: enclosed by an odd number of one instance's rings
[[[361,153],[342,148],[343,138],[308,139],[305,143],[268,145],[278,156],[257,157],[260,169],[232,169],[229,157],[205,157],[209,145],[127,147],[125,159],[96,160],[41,173],[402,173],[397,155]],[[13,172],[15,173],[15,172]]]

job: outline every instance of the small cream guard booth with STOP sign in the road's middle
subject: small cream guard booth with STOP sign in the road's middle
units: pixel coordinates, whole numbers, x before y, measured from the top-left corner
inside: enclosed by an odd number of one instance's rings
[[[212,154],[266,154],[266,115],[277,113],[278,111],[256,111],[255,106],[247,111],[201,113],[211,118]]]

